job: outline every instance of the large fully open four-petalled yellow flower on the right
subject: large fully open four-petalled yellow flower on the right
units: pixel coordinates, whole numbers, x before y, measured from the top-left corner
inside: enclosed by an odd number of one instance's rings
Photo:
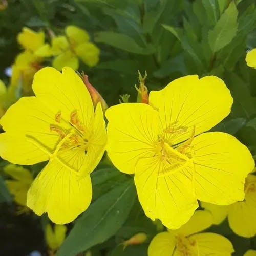
[[[149,105],[106,110],[108,155],[121,172],[135,174],[146,216],[177,229],[197,199],[219,205],[244,199],[250,152],[229,134],[203,133],[229,114],[232,102],[221,79],[193,75],[150,92]]]

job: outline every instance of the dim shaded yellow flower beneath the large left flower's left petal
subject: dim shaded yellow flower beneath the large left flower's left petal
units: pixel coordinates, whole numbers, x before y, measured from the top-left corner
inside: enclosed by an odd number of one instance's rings
[[[14,201],[20,206],[27,207],[27,193],[33,182],[32,174],[28,169],[15,164],[7,164],[4,172],[12,178],[6,180],[6,185],[14,196]]]

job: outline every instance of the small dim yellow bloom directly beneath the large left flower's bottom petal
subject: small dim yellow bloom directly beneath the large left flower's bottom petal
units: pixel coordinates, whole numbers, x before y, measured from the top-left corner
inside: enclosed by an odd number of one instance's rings
[[[46,243],[52,252],[55,252],[66,237],[67,227],[65,225],[46,225],[45,237]]]

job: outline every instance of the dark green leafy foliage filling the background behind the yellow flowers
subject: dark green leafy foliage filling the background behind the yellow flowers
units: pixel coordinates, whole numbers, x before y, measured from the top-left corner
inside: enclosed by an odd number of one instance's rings
[[[108,105],[119,103],[122,94],[136,101],[138,70],[147,71],[149,90],[189,74],[222,78],[234,104],[231,114],[212,130],[233,134],[256,157],[256,71],[245,63],[246,51],[256,48],[254,0],[9,0],[8,7],[0,11],[0,79],[9,83],[5,69],[20,52],[16,35],[22,27],[63,33],[70,24],[86,29],[100,48],[98,65],[80,65],[79,71],[89,75]],[[2,160],[1,168],[6,164]],[[42,166],[30,167],[34,176]],[[45,253],[47,216],[16,215],[5,175],[1,175],[3,255],[16,255],[17,251],[26,255],[32,250]],[[146,255],[159,226],[145,217],[133,178],[117,172],[104,158],[92,180],[93,203],[68,226],[69,235],[57,255],[89,249],[95,256]],[[236,236],[227,222],[211,230],[230,239],[234,255],[256,249],[256,238]],[[123,250],[120,243],[138,232],[147,234],[146,243]]]

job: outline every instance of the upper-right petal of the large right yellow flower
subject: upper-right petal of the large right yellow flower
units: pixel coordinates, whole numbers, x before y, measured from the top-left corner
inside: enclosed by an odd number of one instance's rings
[[[208,131],[230,113],[233,99],[216,76],[185,76],[163,90],[150,92],[150,104],[159,110],[165,137],[172,144]]]

